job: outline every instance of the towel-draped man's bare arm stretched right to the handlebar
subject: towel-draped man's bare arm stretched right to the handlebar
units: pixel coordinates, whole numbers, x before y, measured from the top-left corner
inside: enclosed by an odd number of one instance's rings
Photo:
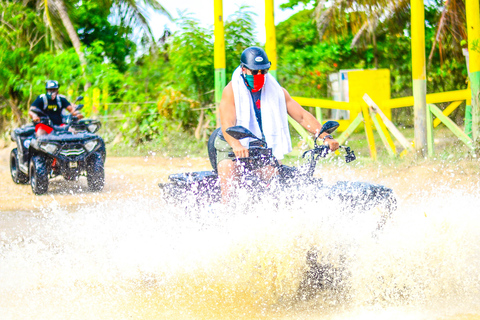
[[[295,100],[292,99],[290,94],[284,88],[283,92],[285,94],[285,102],[287,104],[287,112],[293,120],[297,121],[302,127],[304,127],[308,132],[317,136],[320,130],[322,130],[322,124],[318,122],[318,120],[307,110],[303,109],[302,106]],[[328,135],[328,133],[324,132],[320,136],[323,139]],[[337,150],[339,147],[339,143],[335,139],[327,138],[325,142],[328,143],[328,146],[332,151]]]

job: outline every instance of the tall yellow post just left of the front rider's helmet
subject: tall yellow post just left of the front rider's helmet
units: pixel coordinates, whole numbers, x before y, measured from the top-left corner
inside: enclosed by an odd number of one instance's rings
[[[225,62],[225,35],[223,27],[223,1],[214,0],[214,68],[215,68],[215,103],[217,105],[217,127],[220,126],[218,118],[218,105],[222,100],[223,88],[226,82],[226,62]]]

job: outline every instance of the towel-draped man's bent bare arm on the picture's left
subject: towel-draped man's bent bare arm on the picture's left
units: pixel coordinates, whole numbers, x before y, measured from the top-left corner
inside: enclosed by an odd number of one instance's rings
[[[225,130],[237,124],[237,114],[235,111],[235,98],[233,96],[233,87],[230,82],[225,89],[223,89],[222,100],[219,106],[220,123],[222,126],[222,133],[228,144],[232,147],[233,152],[237,158],[248,157],[248,149],[242,146],[240,141],[233,138]]]

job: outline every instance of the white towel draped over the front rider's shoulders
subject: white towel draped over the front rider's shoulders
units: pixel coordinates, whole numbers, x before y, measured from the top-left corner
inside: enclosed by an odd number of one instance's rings
[[[238,67],[232,75],[233,96],[235,98],[235,111],[237,126],[243,126],[252,131],[257,137],[262,137],[262,131],[255,117],[253,99],[241,75],[242,68]],[[273,155],[281,160],[284,155],[292,151],[292,141],[288,129],[287,106],[285,93],[277,80],[271,75],[266,75],[265,85],[260,98],[262,127],[265,140]],[[248,148],[251,139],[240,140]]]

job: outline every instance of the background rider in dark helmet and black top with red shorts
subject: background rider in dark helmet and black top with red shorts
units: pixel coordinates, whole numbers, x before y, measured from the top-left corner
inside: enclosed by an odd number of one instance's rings
[[[41,117],[48,117],[53,125],[60,126],[62,121],[62,110],[68,110],[73,116],[82,119],[82,114],[75,110],[68,102],[65,96],[58,94],[58,82],[55,80],[48,80],[45,84],[46,93],[41,94],[35,99],[30,106],[28,115],[32,118],[35,125],[36,136],[49,134],[53,128],[45,123],[40,123]]]

